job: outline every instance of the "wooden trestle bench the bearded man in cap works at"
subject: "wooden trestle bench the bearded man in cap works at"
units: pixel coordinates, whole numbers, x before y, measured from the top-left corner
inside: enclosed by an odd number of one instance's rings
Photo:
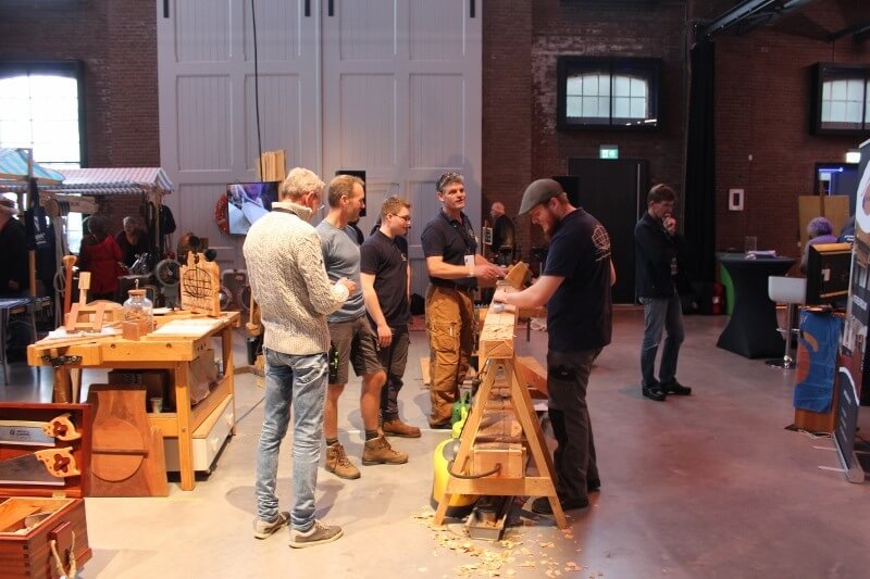
[[[508,282],[500,282],[499,289],[511,291]],[[547,496],[556,524],[561,529],[568,528],[556,494],[552,460],[513,350],[517,314],[512,306],[501,312],[490,307],[486,314],[478,348],[482,383],[435,512],[435,525],[444,524],[453,494],[473,494]],[[489,425],[499,421],[493,416],[499,412],[512,413],[520,429],[519,432],[501,432],[494,442]],[[482,430],[482,425],[487,432]],[[526,453],[537,469],[535,476],[526,474]]]

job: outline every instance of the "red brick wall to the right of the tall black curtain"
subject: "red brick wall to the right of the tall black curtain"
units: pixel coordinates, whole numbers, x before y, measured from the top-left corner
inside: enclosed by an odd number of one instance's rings
[[[717,241],[799,256],[797,198],[812,194],[817,162],[842,162],[866,137],[810,134],[810,66],[817,62],[870,64],[870,46],[852,37],[836,43],[825,30],[846,28],[837,2],[819,1],[786,16],[778,28],[716,40]],[[808,25],[815,23],[817,27]],[[751,155],[751,160],[750,160]],[[743,212],[728,210],[729,188],[746,190]]]

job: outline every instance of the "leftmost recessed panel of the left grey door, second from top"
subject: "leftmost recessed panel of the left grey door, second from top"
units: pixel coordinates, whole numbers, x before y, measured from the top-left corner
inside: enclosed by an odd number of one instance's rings
[[[186,76],[178,86],[178,168],[229,169],[233,131],[228,76]]]

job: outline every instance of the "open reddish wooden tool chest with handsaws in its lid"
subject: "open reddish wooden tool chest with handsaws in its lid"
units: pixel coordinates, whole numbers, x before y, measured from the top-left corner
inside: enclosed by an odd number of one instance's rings
[[[67,414],[73,429],[59,420]],[[0,403],[0,576],[4,579],[55,579],[80,570],[90,559],[84,500],[90,421],[87,404]],[[46,426],[51,435],[39,435],[40,423],[53,425]],[[33,453],[41,451],[58,452],[39,461]],[[45,474],[49,468],[79,474],[59,478],[58,483],[40,480],[46,476],[39,476],[38,467]],[[55,477],[48,474],[48,478]]]

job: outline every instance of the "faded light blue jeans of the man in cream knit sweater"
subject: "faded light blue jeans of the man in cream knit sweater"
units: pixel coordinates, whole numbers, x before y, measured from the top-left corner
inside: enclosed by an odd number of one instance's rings
[[[326,392],[326,353],[291,355],[265,351],[263,430],[257,448],[257,516],[278,517],[275,481],[278,450],[287,433],[293,404],[293,508],[290,526],[307,531],[314,524],[314,488],[323,438],[323,401]]]

